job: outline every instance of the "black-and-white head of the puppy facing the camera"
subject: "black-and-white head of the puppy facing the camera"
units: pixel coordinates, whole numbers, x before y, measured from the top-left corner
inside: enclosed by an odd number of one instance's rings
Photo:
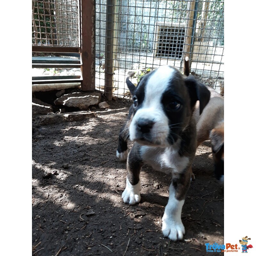
[[[193,77],[162,66],[144,76],[137,87],[126,83],[133,95],[130,140],[142,145],[169,147],[186,129],[197,100],[200,113],[210,99],[207,88]]]

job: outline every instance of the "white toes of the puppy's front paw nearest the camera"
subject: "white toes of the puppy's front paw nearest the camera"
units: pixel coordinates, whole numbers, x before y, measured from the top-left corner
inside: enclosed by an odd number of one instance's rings
[[[167,216],[164,213],[162,224],[162,232],[164,236],[170,238],[173,241],[182,240],[183,235],[185,234],[185,228],[180,220],[174,220],[172,216]]]

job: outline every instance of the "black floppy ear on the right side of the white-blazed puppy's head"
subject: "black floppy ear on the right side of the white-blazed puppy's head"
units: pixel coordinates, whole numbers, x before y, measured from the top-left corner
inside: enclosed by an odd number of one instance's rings
[[[196,101],[199,100],[201,115],[204,107],[210,100],[211,93],[204,84],[197,81],[193,76],[188,76],[184,81],[188,87],[192,107],[196,104]]]

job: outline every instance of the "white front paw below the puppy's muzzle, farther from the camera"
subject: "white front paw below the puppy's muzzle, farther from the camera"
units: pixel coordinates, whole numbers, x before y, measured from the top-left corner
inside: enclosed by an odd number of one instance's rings
[[[126,178],[126,188],[122,194],[125,204],[137,204],[140,202],[140,180],[136,185],[132,185],[128,178]]]

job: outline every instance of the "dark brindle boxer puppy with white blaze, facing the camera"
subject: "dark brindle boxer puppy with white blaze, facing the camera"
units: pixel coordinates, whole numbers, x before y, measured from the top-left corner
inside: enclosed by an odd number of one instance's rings
[[[196,153],[196,122],[193,111],[200,102],[200,114],[210,99],[205,85],[179,70],[162,66],[144,76],[137,87],[126,79],[133,105],[120,130],[116,156],[125,160],[127,140],[133,146],[127,157],[124,203],[140,202],[140,170],[144,164],[172,173],[169,200],[162,218],[164,236],[182,239],[185,228],[181,209],[190,186],[190,168]]]

